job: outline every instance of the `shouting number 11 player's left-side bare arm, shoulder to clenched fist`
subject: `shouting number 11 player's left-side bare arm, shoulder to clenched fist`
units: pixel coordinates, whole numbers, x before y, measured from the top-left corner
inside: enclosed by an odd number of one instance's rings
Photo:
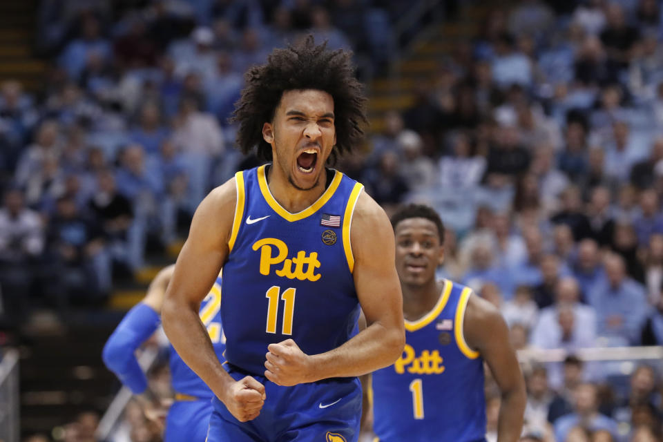
[[[200,302],[228,256],[236,204],[235,180],[211,191],[193,215],[189,238],[177,257],[162,309],[164,331],[182,360],[210,387],[239,421],[260,414],[265,387],[247,376],[240,381],[222,367],[198,316]]]

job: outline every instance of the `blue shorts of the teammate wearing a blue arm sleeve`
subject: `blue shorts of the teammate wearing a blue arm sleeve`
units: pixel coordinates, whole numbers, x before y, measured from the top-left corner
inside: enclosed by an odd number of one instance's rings
[[[205,442],[211,414],[210,399],[173,402],[166,416],[164,442]]]

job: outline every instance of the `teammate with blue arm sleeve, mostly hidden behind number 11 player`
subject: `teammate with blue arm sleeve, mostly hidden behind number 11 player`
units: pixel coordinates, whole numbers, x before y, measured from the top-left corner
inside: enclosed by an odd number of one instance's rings
[[[135,350],[159,327],[166,287],[173,276],[174,265],[165,267],[150,284],[145,298],[133,307],[119,323],[104,346],[104,363],[134,394],[147,389],[147,378],[135,358]],[[225,337],[221,327],[221,278],[213,283],[200,304],[200,321],[207,330],[214,353],[223,361]],[[212,392],[186,366],[171,347],[171,382],[175,402],[166,416],[164,441],[203,442],[212,412]]]

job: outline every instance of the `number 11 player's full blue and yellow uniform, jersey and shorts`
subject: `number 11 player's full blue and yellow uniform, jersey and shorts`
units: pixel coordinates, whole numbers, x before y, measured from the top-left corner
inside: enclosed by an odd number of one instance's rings
[[[345,343],[359,315],[350,224],[363,186],[338,171],[314,204],[289,213],[273,198],[267,166],[236,174],[237,204],[224,264],[221,316],[229,373],[265,385],[260,416],[240,423],[213,399],[208,441],[356,441],[357,378],[280,387],[267,381],[267,345],[292,338],[306,354]]]

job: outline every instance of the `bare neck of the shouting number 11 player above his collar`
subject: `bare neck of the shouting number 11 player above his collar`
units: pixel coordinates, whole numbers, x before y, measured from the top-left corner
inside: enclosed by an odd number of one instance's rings
[[[327,188],[327,169],[320,171],[320,177],[316,185],[308,190],[297,189],[288,177],[282,173],[278,166],[268,166],[267,186],[274,199],[283,209],[290,213],[298,213],[311,206]]]

